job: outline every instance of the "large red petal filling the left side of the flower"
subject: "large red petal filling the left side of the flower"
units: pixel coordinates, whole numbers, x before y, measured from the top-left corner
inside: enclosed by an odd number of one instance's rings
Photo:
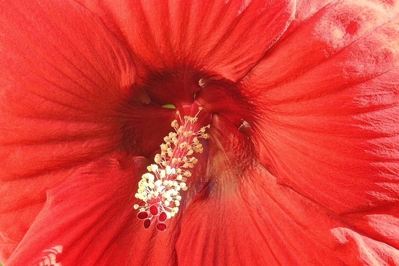
[[[136,68],[103,22],[73,1],[0,5],[4,260],[40,211],[47,189],[121,144]]]

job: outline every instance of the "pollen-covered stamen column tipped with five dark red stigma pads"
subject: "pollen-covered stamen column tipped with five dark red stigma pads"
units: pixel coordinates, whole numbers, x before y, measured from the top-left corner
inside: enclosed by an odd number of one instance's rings
[[[182,196],[180,191],[188,189],[187,178],[191,177],[190,168],[198,162],[194,153],[202,153],[203,147],[199,139],[207,139],[209,135],[205,133],[210,125],[199,127],[195,125],[198,121],[198,114],[203,109],[190,117],[180,116],[177,111],[178,120],[172,121],[171,126],[175,132],[170,132],[164,137],[165,143],[161,144],[161,153],[154,157],[155,164],[149,165],[145,173],[138,182],[138,190],[134,195],[137,199],[144,202],[142,206],[134,204],[134,209],[140,208],[137,218],[144,220],[143,226],[148,229],[151,224],[156,222],[156,228],[165,231],[166,220],[175,216],[179,211]]]

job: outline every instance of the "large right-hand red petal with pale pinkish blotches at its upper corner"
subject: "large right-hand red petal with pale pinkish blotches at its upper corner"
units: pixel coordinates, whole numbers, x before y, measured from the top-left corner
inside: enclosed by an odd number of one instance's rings
[[[396,3],[334,2],[241,83],[263,165],[336,213],[399,199],[397,18]]]

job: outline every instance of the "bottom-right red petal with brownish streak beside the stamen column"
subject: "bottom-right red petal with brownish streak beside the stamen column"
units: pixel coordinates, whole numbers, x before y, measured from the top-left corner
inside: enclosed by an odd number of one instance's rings
[[[387,244],[399,243],[392,233],[385,243],[381,226],[371,224],[372,237],[371,230],[358,229],[364,222],[356,228],[354,220],[277,184],[251,158],[249,139],[223,117],[213,120],[211,133],[211,182],[184,212],[179,264],[398,265],[399,251]],[[215,135],[223,138],[217,143]],[[391,220],[385,228],[397,231],[399,224]]]

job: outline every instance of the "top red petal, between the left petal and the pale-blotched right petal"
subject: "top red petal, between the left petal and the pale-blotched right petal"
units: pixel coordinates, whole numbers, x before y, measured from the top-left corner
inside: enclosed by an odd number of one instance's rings
[[[122,40],[140,73],[194,68],[234,81],[279,38],[295,8],[291,0],[78,2]]]

